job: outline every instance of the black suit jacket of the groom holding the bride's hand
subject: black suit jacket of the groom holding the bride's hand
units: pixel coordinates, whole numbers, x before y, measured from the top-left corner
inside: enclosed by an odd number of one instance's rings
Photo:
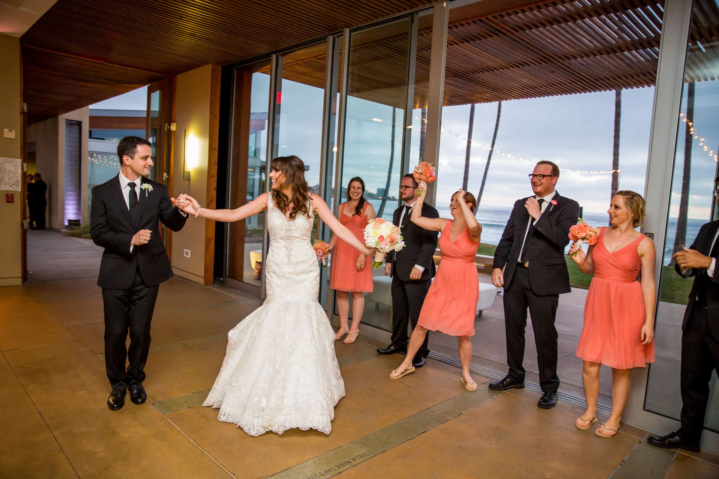
[[[137,218],[134,222],[125,204],[119,177],[114,177],[92,189],[90,235],[96,245],[105,248],[100,263],[99,287],[129,289],[139,266],[142,280],[152,287],[170,279],[170,268],[165,245],[157,231],[158,220],[172,231],[180,231],[187,220],[173,207],[165,185],[142,177],[142,185],[149,184],[152,191],[139,190]],[[130,252],[132,236],[140,230],[150,230],[150,242],[134,246]]]

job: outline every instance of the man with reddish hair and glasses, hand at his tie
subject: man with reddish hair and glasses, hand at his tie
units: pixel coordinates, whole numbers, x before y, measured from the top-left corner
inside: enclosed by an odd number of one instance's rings
[[[569,228],[577,223],[580,206],[554,189],[559,167],[539,162],[529,175],[533,196],[514,203],[494,256],[492,282],[504,287],[504,324],[509,373],[490,389],[505,391],[524,387],[524,328],[527,309],[532,317],[539,360],[539,383],[544,394],[537,406],[557,404],[557,315],[559,294],[568,293],[569,272],[564,248]]]

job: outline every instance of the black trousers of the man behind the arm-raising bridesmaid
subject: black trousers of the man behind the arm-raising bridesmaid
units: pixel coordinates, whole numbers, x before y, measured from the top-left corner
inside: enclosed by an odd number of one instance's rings
[[[392,344],[399,348],[406,348],[409,342],[407,327],[412,320],[412,330],[417,326],[419,312],[422,310],[424,298],[429,291],[431,281],[410,280],[403,281],[397,274],[392,276]],[[417,351],[416,358],[426,358],[429,355],[429,332],[424,337],[424,343]]]

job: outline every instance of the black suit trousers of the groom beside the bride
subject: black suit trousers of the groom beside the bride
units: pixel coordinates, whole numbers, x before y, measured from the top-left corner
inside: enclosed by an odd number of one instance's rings
[[[145,380],[150,352],[150,322],[159,285],[148,287],[139,267],[129,289],[102,289],[105,312],[105,369],[112,389],[126,389]],[[130,334],[129,350],[125,347]],[[127,371],[125,359],[129,360]]]

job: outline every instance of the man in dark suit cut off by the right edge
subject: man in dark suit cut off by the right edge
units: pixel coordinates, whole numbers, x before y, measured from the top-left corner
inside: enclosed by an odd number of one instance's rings
[[[719,177],[715,180],[719,185]],[[714,190],[718,198],[719,190]],[[719,201],[719,198],[718,198]],[[712,371],[719,372],[719,221],[702,225],[690,248],[674,253],[679,275],[694,276],[682,322],[682,427],[666,436],[651,436],[649,444],[699,452]]]

